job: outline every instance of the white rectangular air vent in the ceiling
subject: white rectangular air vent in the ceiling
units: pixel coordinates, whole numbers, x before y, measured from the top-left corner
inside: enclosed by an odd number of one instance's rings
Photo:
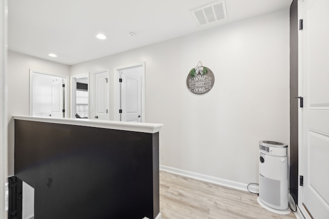
[[[225,1],[217,1],[191,10],[198,26],[221,21],[227,18]]]

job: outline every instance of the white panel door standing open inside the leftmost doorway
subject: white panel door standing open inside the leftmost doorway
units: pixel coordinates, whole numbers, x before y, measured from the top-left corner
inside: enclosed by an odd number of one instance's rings
[[[62,78],[53,79],[51,84],[51,117],[63,117],[63,82]]]

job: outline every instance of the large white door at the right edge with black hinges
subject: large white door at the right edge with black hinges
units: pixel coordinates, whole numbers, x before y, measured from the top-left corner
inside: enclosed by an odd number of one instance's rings
[[[329,218],[329,1],[303,3],[302,211]]]

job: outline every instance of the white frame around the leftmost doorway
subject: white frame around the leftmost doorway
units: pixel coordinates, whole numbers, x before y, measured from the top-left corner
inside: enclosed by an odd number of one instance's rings
[[[70,105],[69,103],[69,95],[68,95],[68,90],[69,90],[69,76],[67,75],[62,75],[62,74],[54,74],[54,73],[49,73],[45,71],[39,71],[35,69],[30,69],[30,116],[33,116],[33,73],[37,74],[45,74],[49,76],[56,76],[56,77],[62,77],[64,79],[65,87],[64,87],[64,117],[68,117],[68,112],[70,112]]]

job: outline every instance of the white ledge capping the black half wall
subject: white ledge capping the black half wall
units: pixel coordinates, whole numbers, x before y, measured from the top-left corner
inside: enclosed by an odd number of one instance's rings
[[[95,128],[115,129],[124,131],[135,131],[145,133],[159,132],[163,124],[157,123],[133,123],[133,122],[120,122],[120,121],[107,121],[107,120],[88,120],[84,118],[51,118],[39,117],[28,115],[14,115],[15,120],[26,120],[44,123],[56,123],[75,126],[86,126]]]

